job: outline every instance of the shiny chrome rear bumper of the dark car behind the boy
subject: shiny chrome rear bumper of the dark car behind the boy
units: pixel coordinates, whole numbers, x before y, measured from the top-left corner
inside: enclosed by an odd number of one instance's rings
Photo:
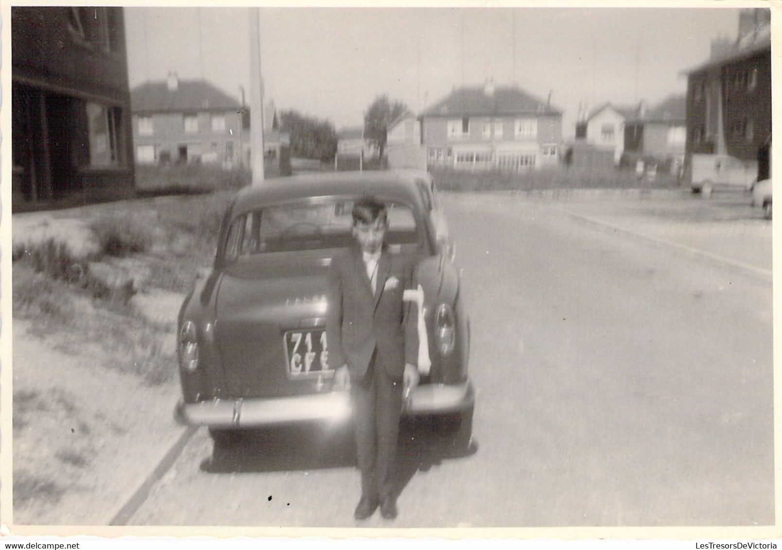
[[[404,416],[460,413],[475,404],[475,390],[463,384],[426,384],[413,392]],[[179,402],[174,418],[190,426],[215,428],[271,427],[298,422],[343,422],[350,420],[350,392],[331,391],[317,395],[284,398],[220,399],[196,403]]]

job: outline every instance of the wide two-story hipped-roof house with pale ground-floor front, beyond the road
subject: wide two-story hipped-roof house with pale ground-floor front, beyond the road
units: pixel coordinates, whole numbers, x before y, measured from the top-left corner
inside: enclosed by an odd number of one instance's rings
[[[529,170],[558,162],[562,113],[516,86],[461,87],[421,113],[429,166]]]

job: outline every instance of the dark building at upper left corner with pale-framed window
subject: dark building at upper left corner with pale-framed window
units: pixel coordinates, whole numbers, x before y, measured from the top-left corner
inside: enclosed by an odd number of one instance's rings
[[[135,194],[122,8],[11,8],[13,209]]]

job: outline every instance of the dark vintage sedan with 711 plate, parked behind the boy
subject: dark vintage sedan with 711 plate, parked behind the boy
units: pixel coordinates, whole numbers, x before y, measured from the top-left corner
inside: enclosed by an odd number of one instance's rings
[[[181,423],[209,427],[217,443],[236,430],[350,421],[349,392],[333,388],[339,365],[328,363],[326,277],[335,254],[353,244],[351,209],[366,194],[386,202],[386,242],[418,259],[425,296],[431,367],[404,415],[435,420],[468,448],[468,315],[434,181],[413,170],[267,180],[235,195],[213,268],[178,317]]]

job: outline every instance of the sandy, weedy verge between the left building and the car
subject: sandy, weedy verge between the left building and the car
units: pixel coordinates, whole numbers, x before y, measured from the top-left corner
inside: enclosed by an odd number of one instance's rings
[[[13,216],[13,523],[105,525],[177,441],[177,314],[228,196]]]

